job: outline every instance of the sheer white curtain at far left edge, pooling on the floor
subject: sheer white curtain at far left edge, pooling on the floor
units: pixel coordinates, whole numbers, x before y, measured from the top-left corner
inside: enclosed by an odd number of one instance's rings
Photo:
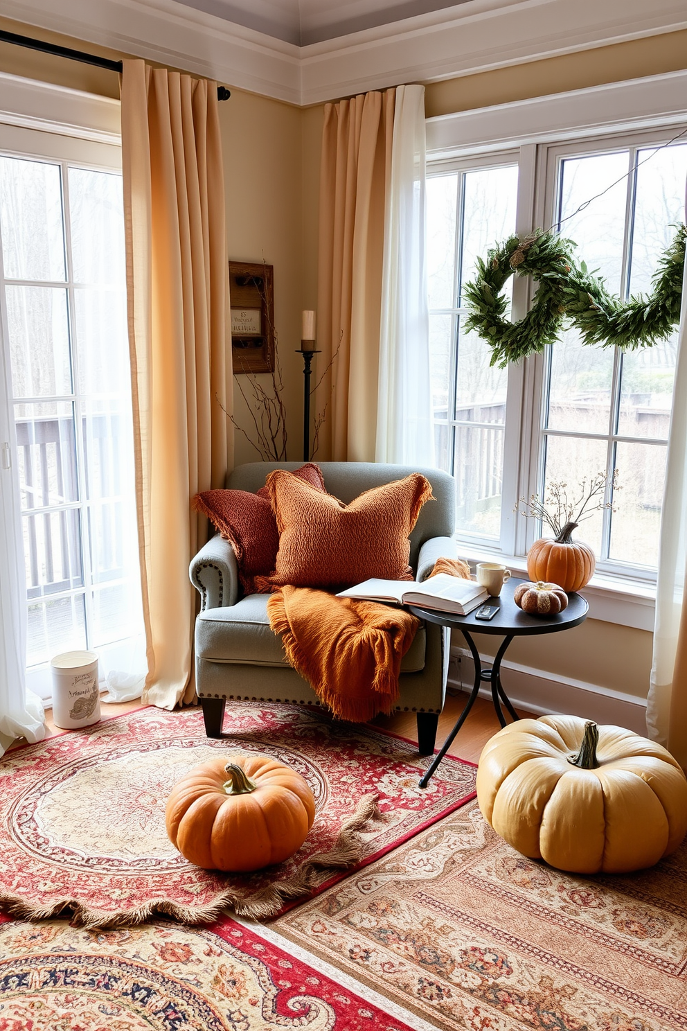
[[[0,350],[0,755],[16,737],[40,741],[45,734],[43,704],[26,690],[26,579],[11,411]]]

